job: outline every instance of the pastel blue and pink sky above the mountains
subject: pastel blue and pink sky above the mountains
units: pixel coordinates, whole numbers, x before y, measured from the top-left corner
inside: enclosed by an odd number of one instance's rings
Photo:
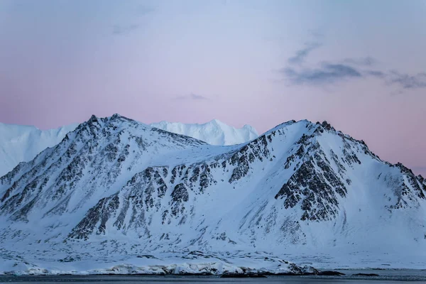
[[[426,0],[0,0],[0,121],[329,121],[426,176]]]

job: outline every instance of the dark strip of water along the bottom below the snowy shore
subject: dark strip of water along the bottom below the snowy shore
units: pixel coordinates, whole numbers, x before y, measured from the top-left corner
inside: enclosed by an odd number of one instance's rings
[[[0,275],[0,283],[426,283],[426,271],[341,271],[342,276],[268,276],[267,278],[219,278],[218,276],[140,276],[140,275],[63,275],[13,276]],[[379,276],[355,276],[356,273],[375,273]]]

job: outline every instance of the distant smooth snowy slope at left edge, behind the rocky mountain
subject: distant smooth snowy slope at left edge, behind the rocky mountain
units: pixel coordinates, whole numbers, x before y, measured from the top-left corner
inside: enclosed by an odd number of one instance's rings
[[[20,162],[33,160],[45,148],[55,146],[78,124],[40,130],[34,126],[0,123],[0,176]]]

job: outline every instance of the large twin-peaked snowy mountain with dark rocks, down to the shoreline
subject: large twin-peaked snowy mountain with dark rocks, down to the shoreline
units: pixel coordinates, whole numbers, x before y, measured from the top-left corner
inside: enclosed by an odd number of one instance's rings
[[[426,268],[425,195],[325,121],[212,146],[92,116],[0,178],[0,271]]]

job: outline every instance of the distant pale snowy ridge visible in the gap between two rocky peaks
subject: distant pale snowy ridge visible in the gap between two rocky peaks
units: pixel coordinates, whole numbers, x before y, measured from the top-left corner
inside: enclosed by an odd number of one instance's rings
[[[253,129],[253,127],[247,124],[241,127],[241,129],[235,129],[217,119],[205,124],[182,124],[180,122],[160,121],[150,124],[150,126],[197,138],[198,140],[217,146],[245,143],[258,137],[256,129]]]

